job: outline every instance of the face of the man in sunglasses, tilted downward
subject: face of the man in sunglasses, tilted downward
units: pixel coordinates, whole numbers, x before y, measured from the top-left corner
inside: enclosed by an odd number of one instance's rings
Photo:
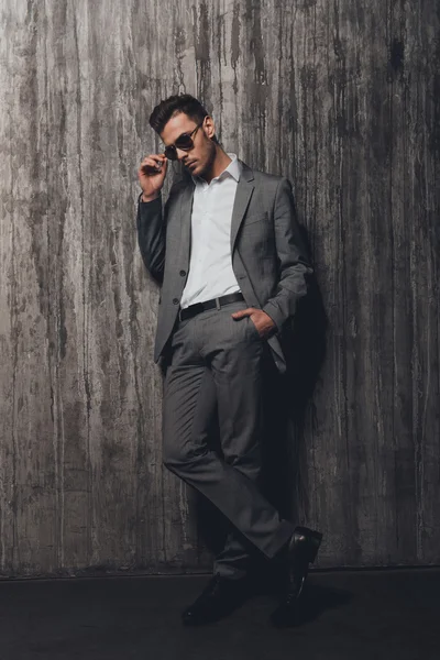
[[[182,133],[191,133],[197,123],[187,114],[179,112],[179,114],[167,121],[161,133],[161,139],[165,146],[174,144]],[[204,176],[204,173],[207,173],[212,165],[216,157],[216,144],[211,140],[213,134],[213,121],[210,117],[206,117],[201,127],[193,133],[194,147],[189,151],[177,148],[177,158],[194,176]]]

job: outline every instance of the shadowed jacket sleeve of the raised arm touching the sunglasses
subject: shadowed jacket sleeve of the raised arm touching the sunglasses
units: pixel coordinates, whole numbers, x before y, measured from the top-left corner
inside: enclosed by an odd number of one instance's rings
[[[146,270],[160,284],[164,279],[166,226],[162,196],[153,201],[138,200],[138,242]]]

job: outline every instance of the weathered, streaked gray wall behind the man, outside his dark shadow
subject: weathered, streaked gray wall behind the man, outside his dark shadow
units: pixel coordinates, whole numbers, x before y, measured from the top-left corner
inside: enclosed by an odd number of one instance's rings
[[[161,465],[134,222],[147,117],[184,90],[309,232],[329,330],[296,506],[320,565],[439,562],[439,2],[0,12],[1,573],[209,565]]]

